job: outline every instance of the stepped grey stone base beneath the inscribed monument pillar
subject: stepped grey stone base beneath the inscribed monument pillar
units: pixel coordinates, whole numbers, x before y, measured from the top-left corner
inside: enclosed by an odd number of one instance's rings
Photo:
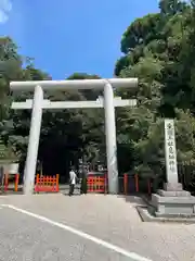
[[[183,190],[182,184],[165,184],[152,195],[148,211],[157,217],[195,217],[195,197]]]

